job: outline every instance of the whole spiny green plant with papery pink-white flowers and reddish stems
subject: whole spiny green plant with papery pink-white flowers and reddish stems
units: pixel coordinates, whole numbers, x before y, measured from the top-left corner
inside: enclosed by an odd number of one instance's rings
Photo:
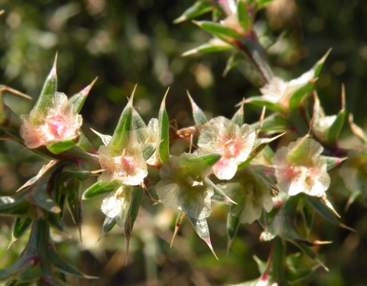
[[[327,270],[311,248],[326,243],[310,240],[313,219],[319,213],[330,223],[347,227],[339,222],[326,192],[331,185],[328,171],[346,157],[339,175],[352,192],[351,199],[361,194],[366,200],[367,135],[349,114],[350,127],[363,147],[339,148],[337,140],[347,115],[344,91],[340,112],[326,116],[313,90],[330,51],[299,78],[286,81],[275,75],[254,30],[257,12],[270,2],[197,1],[175,21],[212,12],[213,21],[194,23],[214,37],[185,55],[233,50],[226,71],[247,61],[257,75],[262,85],[259,96],[239,103],[231,119],[218,116],[209,120],[189,96],[195,126],[176,130],[166,111],[167,90],[158,118],[147,125],[134,108],[134,90],[112,136],[97,133],[103,142],[97,151],[81,131],[83,120],[78,114],[94,81],[68,98],[57,91],[55,59],[32,111],[20,117],[4,104],[2,96],[4,91],[25,95],[1,86],[1,139],[16,142],[50,163],[13,195],[0,197],[0,214],[15,218],[12,242],[31,229],[18,260],[0,270],[0,281],[68,285],[67,275],[94,278],[62,260],[50,228],[66,230],[62,218],[67,208],[80,230],[81,200],[102,194],[107,196],[101,206],[106,218],[100,239],[116,224],[124,227],[127,251],[146,194],[155,203],[178,209],[175,234],[187,217],[214,256],[207,224],[212,201],[229,204],[228,248],[239,224],[258,220],[264,229],[260,239],[271,240],[272,248],[268,261],[257,259],[261,276],[241,285],[287,285],[307,278],[320,265]],[[245,104],[264,107],[258,122],[244,123]],[[265,108],[272,111],[267,116]],[[289,144],[270,148],[281,136],[287,136]],[[188,152],[171,156],[170,139],[190,141]],[[82,182],[91,175],[98,176],[97,182],[82,194]],[[297,246],[315,264],[298,269],[299,255],[286,257],[287,243]]]

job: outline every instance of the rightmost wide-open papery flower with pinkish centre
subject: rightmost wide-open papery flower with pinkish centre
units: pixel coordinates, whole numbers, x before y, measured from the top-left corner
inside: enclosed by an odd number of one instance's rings
[[[303,192],[323,197],[330,185],[326,160],[320,157],[323,149],[306,137],[280,148],[272,158],[280,189],[291,196]]]

